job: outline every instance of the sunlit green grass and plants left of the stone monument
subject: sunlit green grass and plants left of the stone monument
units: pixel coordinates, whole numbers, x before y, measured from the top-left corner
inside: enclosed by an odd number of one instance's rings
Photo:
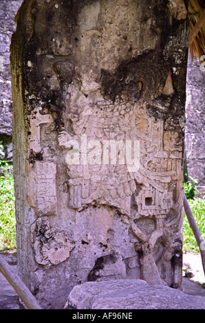
[[[14,178],[7,161],[1,165],[0,177],[0,250],[16,247]],[[3,169],[2,169],[3,168]]]

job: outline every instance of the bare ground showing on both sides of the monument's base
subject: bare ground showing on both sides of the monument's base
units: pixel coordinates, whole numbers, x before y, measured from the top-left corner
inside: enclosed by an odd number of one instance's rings
[[[1,255],[17,271],[17,258],[14,252],[10,251]],[[200,254],[188,252],[183,255],[182,291],[189,295],[204,296],[205,298],[205,289],[203,287],[205,287],[205,276],[201,256]],[[19,296],[1,273],[0,309],[23,309],[23,305],[19,302]]]

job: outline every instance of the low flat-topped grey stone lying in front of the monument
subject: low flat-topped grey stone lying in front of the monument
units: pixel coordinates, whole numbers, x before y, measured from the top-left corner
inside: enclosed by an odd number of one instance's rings
[[[205,297],[190,296],[144,280],[85,282],[69,293],[65,309],[205,309]]]

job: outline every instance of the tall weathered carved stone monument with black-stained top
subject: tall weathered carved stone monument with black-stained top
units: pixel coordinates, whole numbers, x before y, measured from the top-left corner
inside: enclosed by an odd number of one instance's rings
[[[184,1],[27,0],[12,36],[19,273],[182,282]],[[179,5],[180,3],[180,5]]]

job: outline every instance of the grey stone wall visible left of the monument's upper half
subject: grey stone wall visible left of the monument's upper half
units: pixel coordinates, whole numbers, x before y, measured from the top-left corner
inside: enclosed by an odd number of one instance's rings
[[[12,160],[12,93],[10,78],[10,38],[16,30],[14,17],[22,0],[0,0],[0,141],[6,159]]]

